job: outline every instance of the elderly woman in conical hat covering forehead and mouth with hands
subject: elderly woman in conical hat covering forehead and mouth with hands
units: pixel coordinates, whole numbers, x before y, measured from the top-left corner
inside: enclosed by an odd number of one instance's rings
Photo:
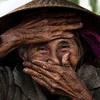
[[[35,7],[31,4],[42,8],[28,10],[27,5]],[[98,27],[69,5],[65,0],[32,1],[25,5],[28,11],[23,6],[22,12],[0,19],[1,28],[6,21],[0,44],[1,100],[100,100]]]

